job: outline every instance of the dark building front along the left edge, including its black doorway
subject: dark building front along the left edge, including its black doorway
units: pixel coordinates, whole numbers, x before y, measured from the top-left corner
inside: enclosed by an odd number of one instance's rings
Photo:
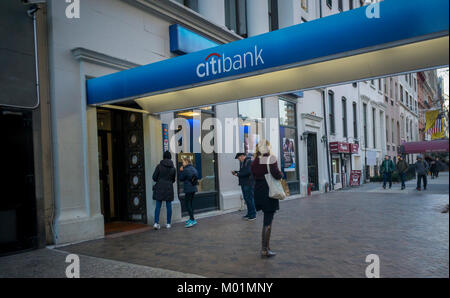
[[[51,119],[45,10],[0,3],[0,256],[51,239]]]

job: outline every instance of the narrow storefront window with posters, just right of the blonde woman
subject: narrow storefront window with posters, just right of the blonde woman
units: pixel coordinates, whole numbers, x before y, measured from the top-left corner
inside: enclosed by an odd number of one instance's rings
[[[289,185],[291,194],[299,193],[297,123],[295,104],[279,100],[281,171]]]

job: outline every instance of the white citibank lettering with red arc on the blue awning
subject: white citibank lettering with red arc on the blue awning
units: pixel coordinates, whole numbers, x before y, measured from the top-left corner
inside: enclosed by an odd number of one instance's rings
[[[232,70],[240,70],[249,67],[256,67],[264,64],[262,49],[255,46],[254,50],[244,54],[234,55],[233,58],[225,54],[212,53],[205,58],[205,62],[197,65],[197,76],[199,78],[209,77]]]

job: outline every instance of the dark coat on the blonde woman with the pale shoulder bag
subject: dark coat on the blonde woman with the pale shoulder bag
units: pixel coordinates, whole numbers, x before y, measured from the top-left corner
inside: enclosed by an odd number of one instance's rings
[[[275,179],[280,180],[283,178],[283,173],[278,169],[278,162],[273,156],[271,161],[272,163],[269,165],[270,173]],[[279,210],[279,200],[269,197],[269,186],[264,177],[267,174],[267,164],[260,164],[259,157],[255,158],[252,163],[252,174],[255,179],[254,198],[256,210],[262,210],[263,212],[275,212]]]

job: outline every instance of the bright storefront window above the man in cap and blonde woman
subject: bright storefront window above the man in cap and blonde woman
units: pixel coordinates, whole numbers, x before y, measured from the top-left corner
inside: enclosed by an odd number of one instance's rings
[[[259,140],[264,138],[261,99],[252,99],[238,103],[240,151],[254,153]]]

